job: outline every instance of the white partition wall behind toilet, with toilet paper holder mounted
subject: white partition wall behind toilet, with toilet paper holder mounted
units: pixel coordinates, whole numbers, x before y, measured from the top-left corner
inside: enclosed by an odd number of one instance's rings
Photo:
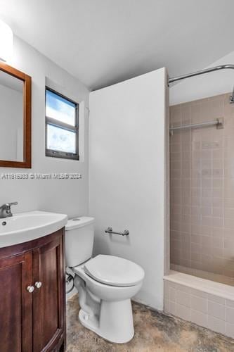
[[[162,309],[166,70],[90,95],[90,207],[94,254],[133,260],[145,270],[138,301]],[[105,234],[128,229],[129,237]]]

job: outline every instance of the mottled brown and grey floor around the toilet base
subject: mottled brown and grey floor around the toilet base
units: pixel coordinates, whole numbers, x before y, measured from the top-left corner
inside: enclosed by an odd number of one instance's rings
[[[77,296],[67,302],[67,352],[233,352],[234,340],[133,303],[135,336],[111,344],[79,323]]]

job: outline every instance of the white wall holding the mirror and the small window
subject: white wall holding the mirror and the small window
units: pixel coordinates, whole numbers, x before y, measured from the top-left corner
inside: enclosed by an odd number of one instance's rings
[[[0,203],[19,201],[13,211],[50,210],[70,217],[88,212],[88,111],[89,91],[77,79],[15,37],[14,58],[9,63],[32,76],[32,169],[0,168],[3,172],[80,172],[82,180],[2,180]],[[45,83],[75,101],[81,108],[82,161],[45,156]]]

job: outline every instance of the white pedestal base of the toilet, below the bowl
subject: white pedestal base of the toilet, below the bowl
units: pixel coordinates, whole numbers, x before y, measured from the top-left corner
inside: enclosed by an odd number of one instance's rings
[[[81,309],[79,310],[79,321],[84,327],[110,342],[124,344],[134,337],[130,299],[114,302],[102,300],[99,317],[89,316]]]

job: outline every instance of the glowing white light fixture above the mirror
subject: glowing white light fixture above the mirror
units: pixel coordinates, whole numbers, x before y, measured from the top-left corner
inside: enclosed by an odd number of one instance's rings
[[[4,21],[0,20],[0,60],[9,61],[13,54],[13,32]]]

